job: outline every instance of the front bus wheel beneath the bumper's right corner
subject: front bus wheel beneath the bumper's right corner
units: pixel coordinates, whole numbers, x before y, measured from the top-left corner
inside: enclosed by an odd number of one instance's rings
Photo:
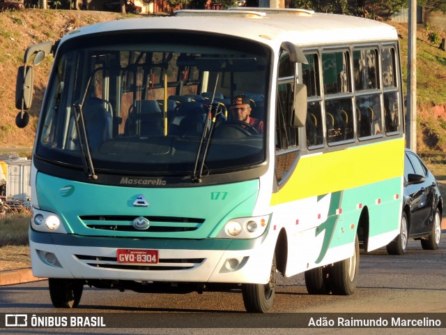
[[[276,290],[276,256],[272,258],[270,281],[266,284],[242,284],[243,303],[249,313],[266,313],[272,307]]]

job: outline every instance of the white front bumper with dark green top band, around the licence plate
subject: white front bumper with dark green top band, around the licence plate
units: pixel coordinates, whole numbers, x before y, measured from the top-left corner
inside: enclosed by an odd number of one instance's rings
[[[34,276],[126,281],[267,283],[273,248],[258,239],[124,239],[30,230]],[[157,250],[157,264],[118,262],[118,248]]]

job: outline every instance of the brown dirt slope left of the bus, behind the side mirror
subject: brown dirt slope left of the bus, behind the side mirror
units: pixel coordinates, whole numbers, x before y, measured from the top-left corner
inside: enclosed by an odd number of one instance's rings
[[[0,147],[32,147],[37,117],[52,57],[34,71],[34,99],[29,126],[15,126],[15,78],[29,45],[57,40],[78,27],[96,22],[135,17],[84,10],[38,10],[0,13]]]

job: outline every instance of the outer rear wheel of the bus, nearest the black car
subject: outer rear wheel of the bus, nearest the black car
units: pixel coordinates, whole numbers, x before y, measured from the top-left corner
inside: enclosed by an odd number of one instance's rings
[[[355,239],[355,253],[351,258],[336,262],[330,267],[330,288],[334,295],[351,295],[356,290],[356,280],[360,269],[360,244]]]

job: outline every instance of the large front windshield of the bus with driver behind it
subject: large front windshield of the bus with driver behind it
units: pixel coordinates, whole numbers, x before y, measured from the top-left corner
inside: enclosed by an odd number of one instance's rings
[[[231,100],[247,96],[251,117],[267,128],[270,57],[257,43],[206,34],[68,40],[56,52],[36,156],[78,168],[88,154],[98,171],[187,175],[205,132],[205,173],[258,165],[263,129],[238,121]]]

